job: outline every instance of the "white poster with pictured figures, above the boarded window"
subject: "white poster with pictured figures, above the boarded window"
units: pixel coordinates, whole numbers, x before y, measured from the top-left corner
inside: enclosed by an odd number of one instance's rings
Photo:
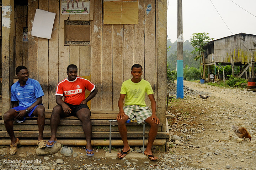
[[[62,14],[89,14],[90,0],[62,0]]]

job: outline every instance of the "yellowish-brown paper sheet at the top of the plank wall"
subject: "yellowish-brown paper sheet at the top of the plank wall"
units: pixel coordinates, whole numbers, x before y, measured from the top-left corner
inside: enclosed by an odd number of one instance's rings
[[[139,1],[104,1],[104,24],[138,24]]]

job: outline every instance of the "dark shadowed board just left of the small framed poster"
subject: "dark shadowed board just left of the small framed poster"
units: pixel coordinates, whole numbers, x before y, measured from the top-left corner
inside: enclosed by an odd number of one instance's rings
[[[22,43],[22,27],[23,24],[23,6],[16,6],[16,22],[15,22],[15,68],[22,65],[23,43]]]

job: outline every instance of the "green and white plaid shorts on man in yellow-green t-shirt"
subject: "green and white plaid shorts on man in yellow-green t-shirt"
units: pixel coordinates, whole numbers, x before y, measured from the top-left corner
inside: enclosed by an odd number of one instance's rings
[[[141,107],[138,105],[124,106],[124,113],[132,120],[144,121],[152,116],[152,112],[149,107]],[[140,122],[138,122],[140,124]]]

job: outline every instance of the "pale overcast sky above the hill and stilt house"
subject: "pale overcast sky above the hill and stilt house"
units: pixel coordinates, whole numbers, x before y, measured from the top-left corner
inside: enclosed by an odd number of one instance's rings
[[[203,32],[209,33],[210,38],[214,40],[238,33],[256,35],[256,0],[211,1],[182,0],[184,41],[190,40],[193,33]],[[167,35],[169,38],[167,39],[174,42],[177,40],[177,0],[167,0],[168,2]]]

